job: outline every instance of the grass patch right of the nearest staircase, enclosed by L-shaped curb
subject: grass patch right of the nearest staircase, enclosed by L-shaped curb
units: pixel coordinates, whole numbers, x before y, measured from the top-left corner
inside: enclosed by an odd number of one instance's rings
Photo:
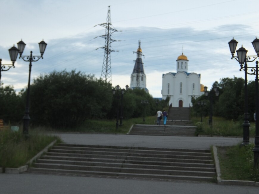
[[[218,147],[221,179],[259,182],[259,169],[253,168],[254,144]]]

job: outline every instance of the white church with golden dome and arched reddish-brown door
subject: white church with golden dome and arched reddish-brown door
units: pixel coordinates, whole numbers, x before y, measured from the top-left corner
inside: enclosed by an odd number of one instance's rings
[[[188,72],[187,56],[177,58],[177,72],[163,74],[162,98],[170,97],[169,105],[172,107],[192,106],[191,98],[204,94],[204,85],[200,83],[201,74]]]

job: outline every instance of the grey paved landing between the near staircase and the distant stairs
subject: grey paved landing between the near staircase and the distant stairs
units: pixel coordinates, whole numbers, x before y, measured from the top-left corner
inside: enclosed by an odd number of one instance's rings
[[[154,135],[111,135],[111,134],[55,134],[65,143],[105,145],[105,146],[135,146],[158,148],[187,148],[210,149],[214,146],[236,145],[243,138],[223,137],[183,137],[183,136],[154,136]]]

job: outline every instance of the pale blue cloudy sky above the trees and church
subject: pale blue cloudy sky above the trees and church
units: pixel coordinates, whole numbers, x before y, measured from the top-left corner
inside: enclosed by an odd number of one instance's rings
[[[259,36],[258,0],[0,0],[2,64],[10,64],[8,49],[21,39],[24,55],[39,55],[38,42],[48,44],[44,59],[32,63],[32,78],[54,70],[76,70],[101,76],[105,23],[110,6],[113,33],[113,86],[130,84],[138,40],[141,40],[147,88],[161,97],[162,75],[176,72],[176,59],[188,57],[188,72],[201,74],[211,88],[221,78],[242,77],[228,42],[234,37],[248,55]],[[97,25],[97,26],[96,26]],[[97,37],[97,38],[96,38]],[[97,50],[96,50],[97,49]],[[253,65],[253,64],[251,64]],[[1,72],[1,82],[20,91],[28,84],[29,63],[17,59],[15,68]],[[249,76],[254,80],[254,76]]]

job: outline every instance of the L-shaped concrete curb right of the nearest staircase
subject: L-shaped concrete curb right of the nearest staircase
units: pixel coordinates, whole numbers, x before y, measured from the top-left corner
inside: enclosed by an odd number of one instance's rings
[[[217,147],[213,146],[213,154],[214,154],[214,161],[216,166],[216,176],[217,176],[217,183],[220,185],[237,185],[237,186],[255,186],[259,187],[259,182],[254,181],[239,181],[239,180],[224,180],[221,179],[221,172],[220,172],[220,165],[219,165],[219,157],[217,152]]]

